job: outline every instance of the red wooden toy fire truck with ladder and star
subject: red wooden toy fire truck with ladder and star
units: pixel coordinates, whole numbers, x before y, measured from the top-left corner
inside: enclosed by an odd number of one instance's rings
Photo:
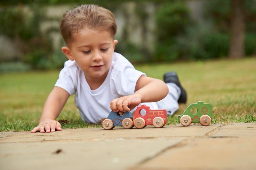
[[[146,111],[143,116],[142,110]],[[144,128],[147,125],[154,125],[156,128],[162,128],[167,123],[167,113],[165,109],[151,110],[145,104],[136,109],[133,114],[133,124],[136,128]]]

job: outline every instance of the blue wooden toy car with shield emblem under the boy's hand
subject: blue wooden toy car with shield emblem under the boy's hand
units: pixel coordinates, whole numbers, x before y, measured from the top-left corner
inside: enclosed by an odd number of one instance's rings
[[[115,128],[115,126],[123,126],[125,129],[130,129],[133,127],[132,114],[126,111],[123,115],[119,115],[118,112],[111,111],[108,118],[101,120],[101,125],[107,130]]]

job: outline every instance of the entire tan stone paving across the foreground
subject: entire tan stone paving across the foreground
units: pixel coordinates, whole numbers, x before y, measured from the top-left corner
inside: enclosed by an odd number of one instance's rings
[[[255,169],[256,123],[0,132],[4,169]]]

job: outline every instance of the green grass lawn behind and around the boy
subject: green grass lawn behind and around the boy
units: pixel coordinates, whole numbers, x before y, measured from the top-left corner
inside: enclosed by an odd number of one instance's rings
[[[179,75],[188,94],[168,124],[177,124],[177,115],[189,104],[203,101],[213,107],[212,123],[256,122],[256,58],[213,60],[186,63],[135,65],[149,77],[163,79],[167,71]],[[29,131],[38,125],[44,101],[51,92],[59,71],[0,74],[0,131]],[[84,123],[68,99],[60,116],[62,128],[101,127]]]

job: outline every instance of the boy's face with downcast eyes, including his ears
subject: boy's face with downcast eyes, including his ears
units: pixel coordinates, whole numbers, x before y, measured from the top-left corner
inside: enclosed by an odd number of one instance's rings
[[[105,80],[117,43],[111,32],[84,28],[74,33],[72,39],[69,48],[62,47],[66,56],[76,61],[87,81]]]

